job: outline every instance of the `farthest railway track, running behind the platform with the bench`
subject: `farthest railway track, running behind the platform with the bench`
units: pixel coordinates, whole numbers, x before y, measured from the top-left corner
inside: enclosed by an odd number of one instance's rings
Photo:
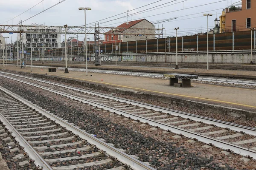
[[[28,65],[29,66],[29,65]],[[46,66],[33,66],[36,68],[47,68]],[[64,71],[64,67],[58,67],[58,70]],[[69,68],[70,71],[78,71],[85,72],[84,68]],[[163,77],[163,74],[151,74],[151,73],[140,73],[140,72],[129,72],[129,71],[108,71],[108,70],[96,70],[96,69],[88,69],[90,73],[99,73],[99,74],[116,74],[116,75],[125,75],[125,76],[137,76],[137,77],[152,77],[159,79],[167,79]],[[223,78],[214,78],[214,77],[198,77],[198,79],[192,79],[196,82],[218,82],[218,83],[226,83],[232,85],[248,85],[248,86],[256,86],[256,81],[249,80],[240,80],[240,79],[223,79]]]

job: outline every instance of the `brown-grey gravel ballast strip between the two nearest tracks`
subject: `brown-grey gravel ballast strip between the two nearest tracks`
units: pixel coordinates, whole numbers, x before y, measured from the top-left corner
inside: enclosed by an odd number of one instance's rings
[[[86,104],[81,104],[39,88],[24,88],[23,84],[1,78],[0,85],[7,88],[52,113],[74,123],[76,126],[113,143],[126,153],[138,156],[141,161],[149,161],[158,169],[206,167],[215,169],[226,167],[249,168],[255,161],[243,163],[241,156],[230,154],[224,156],[218,148],[206,149],[204,144],[186,142],[187,138],[173,139],[174,133],[163,133],[163,130],[151,130],[148,125],[134,123],[133,120],[123,120],[123,117],[98,110]],[[10,87],[8,84],[12,83]],[[20,86],[21,85],[21,86]],[[27,85],[26,85],[27,86]]]

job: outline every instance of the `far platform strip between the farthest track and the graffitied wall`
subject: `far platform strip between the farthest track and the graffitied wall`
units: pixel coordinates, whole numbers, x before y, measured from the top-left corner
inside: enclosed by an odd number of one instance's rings
[[[80,62],[79,62],[80,63]],[[246,71],[246,70],[236,70],[237,67],[234,65],[235,70],[223,70],[223,69],[209,69],[207,70],[207,65],[205,69],[203,68],[180,68],[175,70],[173,67],[166,65],[166,67],[153,67],[153,66],[133,66],[133,65],[124,65],[120,62],[115,65],[104,65],[101,66],[92,65],[93,62],[89,62],[88,69],[102,69],[102,70],[116,70],[116,71],[134,71],[134,72],[144,72],[144,73],[158,73],[158,74],[169,74],[169,73],[180,73],[180,74],[195,74],[198,76],[214,76],[214,77],[230,77],[230,78],[240,78],[240,79],[255,79],[256,80],[256,71]],[[28,62],[27,65],[30,63]],[[126,64],[126,63],[125,63]],[[150,64],[150,63],[149,63]],[[157,63],[156,63],[157,64]],[[65,67],[65,63],[55,63],[55,62],[33,62],[33,65],[42,65],[48,67]],[[203,65],[203,64],[201,64]],[[84,64],[76,64],[76,62],[71,65],[71,62],[68,62],[68,67],[74,68],[85,68]],[[256,65],[250,65],[250,67],[255,67]]]

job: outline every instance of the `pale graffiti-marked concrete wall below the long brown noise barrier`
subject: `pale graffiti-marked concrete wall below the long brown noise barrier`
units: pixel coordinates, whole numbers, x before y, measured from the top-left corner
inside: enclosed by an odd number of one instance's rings
[[[84,61],[84,56],[73,56],[77,57],[76,61]],[[89,57],[89,56],[88,56]],[[33,57],[34,60],[39,61],[42,58]],[[64,61],[65,56],[59,57],[45,57],[46,61]],[[68,56],[68,61],[71,61],[70,55]],[[91,55],[90,61],[95,61],[94,55]],[[113,54],[101,54],[101,61],[104,62],[114,62],[116,61],[116,57]],[[168,62],[175,63],[176,62],[176,54],[148,54],[148,55],[139,55],[134,53],[123,53],[122,57],[117,55],[118,62]],[[209,63],[250,63],[251,57],[250,53],[213,53],[209,54]],[[178,54],[178,62],[179,63],[206,63],[207,62],[207,54]],[[256,63],[256,53],[253,53],[253,63]]]

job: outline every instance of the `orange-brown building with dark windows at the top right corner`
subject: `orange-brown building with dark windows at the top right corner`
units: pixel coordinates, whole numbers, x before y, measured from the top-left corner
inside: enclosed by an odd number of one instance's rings
[[[221,32],[247,31],[256,27],[256,0],[241,0],[226,8],[222,14]],[[225,19],[225,20],[223,20]]]

